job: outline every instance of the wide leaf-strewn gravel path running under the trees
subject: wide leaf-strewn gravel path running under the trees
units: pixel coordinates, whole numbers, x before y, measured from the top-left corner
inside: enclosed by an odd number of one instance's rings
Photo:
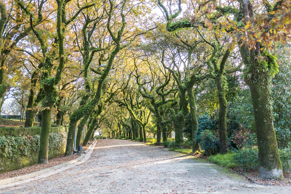
[[[128,140],[98,140],[79,162],[0,193],[291,193],[250,184],[203,159]]]

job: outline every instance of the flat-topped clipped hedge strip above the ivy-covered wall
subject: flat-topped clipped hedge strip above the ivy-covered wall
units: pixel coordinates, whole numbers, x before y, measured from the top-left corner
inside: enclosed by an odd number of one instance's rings
[[[2,136],[35,136],[40,135],[41,127],[1,127],[0,137]],[[51,133],[68,132],[68,127],[51,127]]]

